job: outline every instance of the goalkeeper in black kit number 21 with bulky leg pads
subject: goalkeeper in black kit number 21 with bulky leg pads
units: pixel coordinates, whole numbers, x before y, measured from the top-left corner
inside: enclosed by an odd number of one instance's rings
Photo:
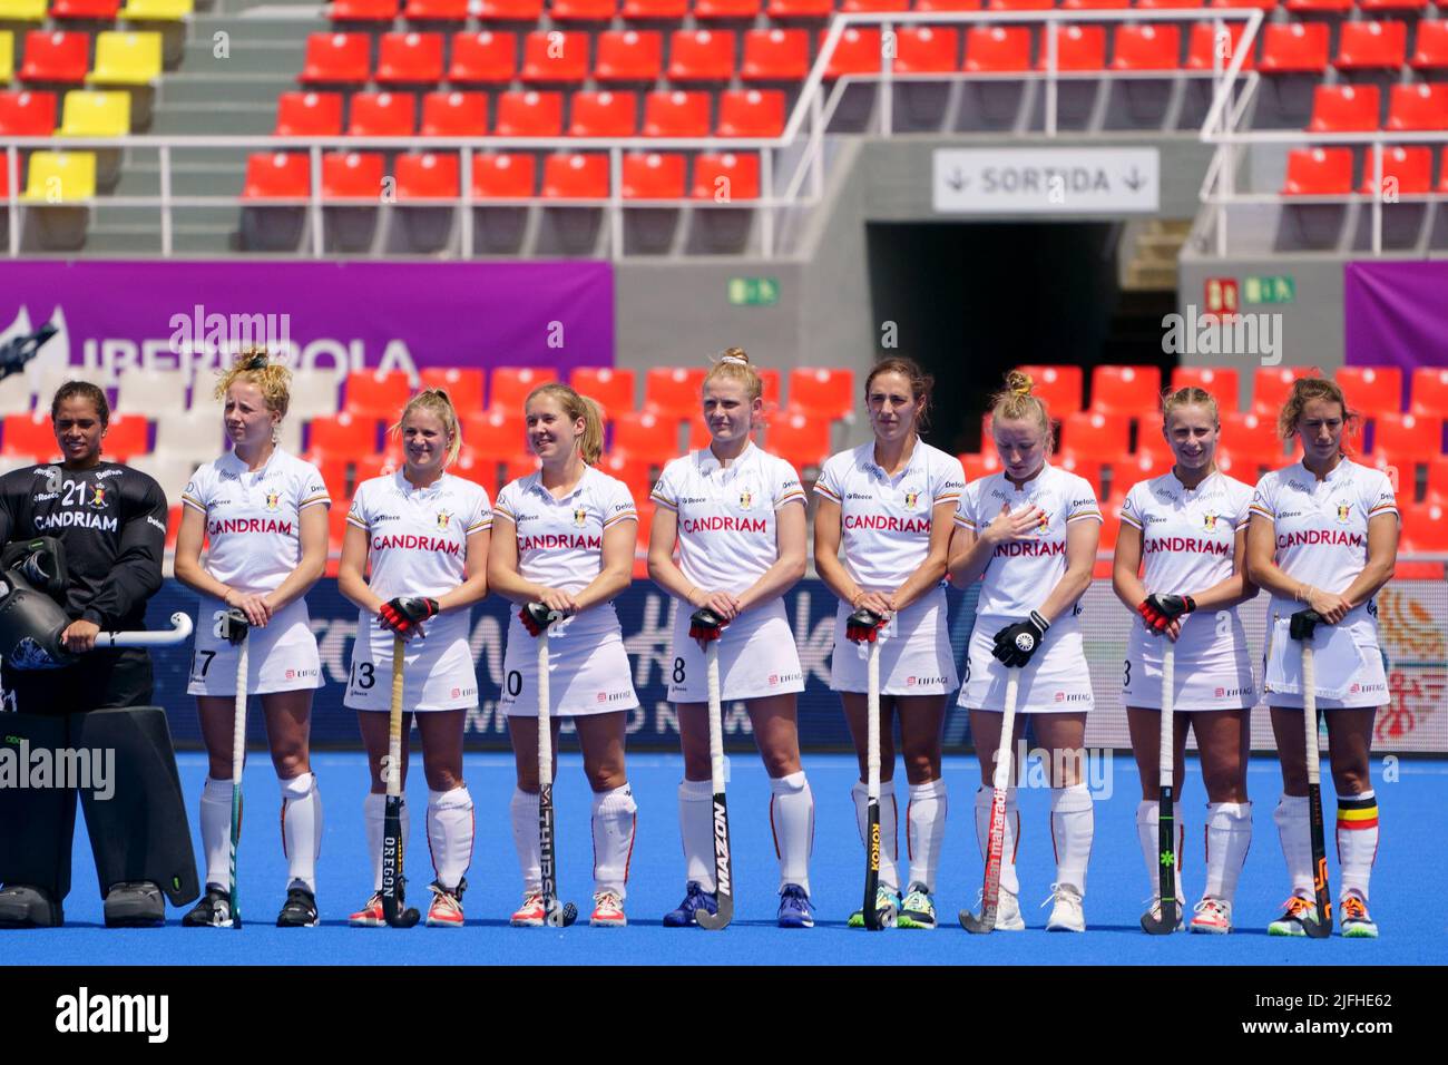
[[[96,385],[64,384],[51,422],[62,462],[0,477],[0,743],[93,762],[113,752],[106,791],[80,791],[106,923],[156,924],[164,897],[198,894],[175,753],[145,649],[97,651],[96,638],[145,627],[167,498],[146,474],[101,461],[110,406]],[[0,927],[64,922],[77,790],[49,782],[0,787]]]

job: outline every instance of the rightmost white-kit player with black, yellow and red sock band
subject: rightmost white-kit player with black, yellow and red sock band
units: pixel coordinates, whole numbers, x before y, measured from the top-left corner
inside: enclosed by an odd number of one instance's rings
[[[1251,503],[1248,575],[1271,593],[1263,694],[1283,782],[1273,820],[1292,880],[1286,910],[1267,926],[1274,936],[1308,935],[1306,922],[1319,920],[1299,656],[1302,642],[1312,640],[1316,704],[1326,711],[1338,794],[1342,935],[1377,937],[1367,910],[1378,840],[1368,755],[1373,722],[1387,703],[1387,675],[1374,597],[1393,578],[1399,511],[1387,474],[1354,462],[1342,446],[1342,433],[1357,417],[1335,383],[1295,381],[1277,432],[1297,438],[1302,461],[1266,474]]]

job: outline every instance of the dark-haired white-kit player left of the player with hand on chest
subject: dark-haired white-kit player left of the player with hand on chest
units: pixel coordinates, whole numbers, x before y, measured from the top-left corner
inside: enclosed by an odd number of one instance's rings
[[[935,927],[935,874],[946,836],[941,729],[946,696],[956,690],[946,617],[946,564],[951,517],[964,487],[954,455],[919,439],[933,380],[906,358],[876,362],[864,381],[873,439],[833,455],[815,493],[815,567],[840,598],[830,687],[840,693],[860,759],[854,809],[866,838],[869,697],[866,645],[879,640],[880,665],[880,868],[876,913],[885,924]],[[843,559],[841,559],[843,546]],[[862,610],[877,632],[851,623]],[[905,775],[909,880],[904,900],[896,871],[893,720],[899,719]],[[863,910],[850,917],[864,926]]]

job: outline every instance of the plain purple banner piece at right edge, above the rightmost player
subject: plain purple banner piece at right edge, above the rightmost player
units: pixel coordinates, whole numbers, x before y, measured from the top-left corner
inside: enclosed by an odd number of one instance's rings
[[[1448,367],[1448,262],[1350,262],[1342,270],[1350,367]]]

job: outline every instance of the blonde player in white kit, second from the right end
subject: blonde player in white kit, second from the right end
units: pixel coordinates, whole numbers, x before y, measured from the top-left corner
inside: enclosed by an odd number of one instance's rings
[[[1173,649],[1173,794],[1177,913],[1183,909],[1179,811],[1187,730],[1196,733],[1206,788],[1206,885],[1192,932],[1232,929],[1232,900],[1253,838],[1247,800],[1250,710],[1257,701],[1247,632],[1237,607],[1257,594],[1247,577],[1253,490],[1216,468],[1221,417],[1202,388],[1167,391],[1163,436],[1176,458],[1166,474],[1127,493],[1112,587],[1140,623],[1127,645],[1122,703],[1141,772],[1137,835],[1161,919],[1158,819],[1161,685],[1166,642]],[[1145,569],[1141,571],[1142,564]],[[1138,577],[1138,571],[1141,575]]]

